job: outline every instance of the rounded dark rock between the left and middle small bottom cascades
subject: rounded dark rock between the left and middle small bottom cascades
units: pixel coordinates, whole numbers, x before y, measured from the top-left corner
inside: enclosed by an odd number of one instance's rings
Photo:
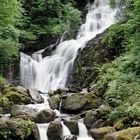
[[[63,126],[60,122],[49,124],[47,135],[49,140],[63,140]]]

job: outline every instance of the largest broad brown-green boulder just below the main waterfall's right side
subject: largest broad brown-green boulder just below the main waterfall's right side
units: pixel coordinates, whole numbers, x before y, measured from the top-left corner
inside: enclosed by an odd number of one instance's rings
[[[62,107],[67,112],[80,112],[97,108],[101,101],[92,93],[73,93],[62,102]]]

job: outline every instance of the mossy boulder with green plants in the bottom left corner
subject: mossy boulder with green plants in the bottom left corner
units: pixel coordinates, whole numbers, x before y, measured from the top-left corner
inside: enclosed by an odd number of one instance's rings
[[[39,140],[35,123],[23,119],[0,120],[0,139],[2,140]]]

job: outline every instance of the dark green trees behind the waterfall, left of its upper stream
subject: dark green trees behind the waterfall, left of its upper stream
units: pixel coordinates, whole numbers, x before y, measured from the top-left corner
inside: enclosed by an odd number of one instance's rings
[[[25,12],[22,24],[18,27],[21,30],[21,42],[25,44],[45,37],[58,37],[67,28],[73,34],[81,15],[73,0],[24,0],[23,7]]]

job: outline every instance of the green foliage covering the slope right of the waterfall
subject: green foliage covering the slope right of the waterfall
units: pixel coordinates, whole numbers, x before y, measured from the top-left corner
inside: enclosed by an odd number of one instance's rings
[[[113,25],[103,39],[109,49],[122,53],[103,65],[97,82],[100,94],[114,107],[112,121],[140,115],[140,1],[129,4],[127,21]]]

